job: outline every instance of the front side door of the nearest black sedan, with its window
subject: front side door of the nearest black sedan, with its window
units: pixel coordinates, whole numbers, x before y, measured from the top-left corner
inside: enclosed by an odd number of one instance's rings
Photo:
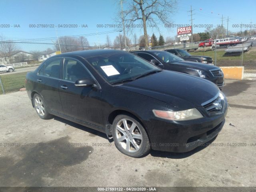
[[[102,125],[101,90],[75,86],[78,79],[92,78],[86,66],[75,58],[64,58],[60,100],[65,115],[94,125]]]

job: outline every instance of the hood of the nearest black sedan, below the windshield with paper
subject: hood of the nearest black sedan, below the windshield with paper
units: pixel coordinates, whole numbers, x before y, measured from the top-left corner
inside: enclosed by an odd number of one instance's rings
[[[124,83],[118,88],[161,100],[178,110],[202,106],[219,92],[218,87],[208,80],[167,70]]]

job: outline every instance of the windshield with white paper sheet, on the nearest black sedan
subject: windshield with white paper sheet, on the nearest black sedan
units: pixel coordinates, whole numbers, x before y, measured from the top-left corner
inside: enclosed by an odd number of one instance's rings
[[[134,80],[160,68],[130,53],[104,54],[86,58],[110,84]]]

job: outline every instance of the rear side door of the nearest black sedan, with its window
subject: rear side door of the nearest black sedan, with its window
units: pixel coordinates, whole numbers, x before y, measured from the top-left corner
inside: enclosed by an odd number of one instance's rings
[[[63,113],[60,103],[59,82],[62,58],[48,60],[38,71],[37,90],[50,110]]]

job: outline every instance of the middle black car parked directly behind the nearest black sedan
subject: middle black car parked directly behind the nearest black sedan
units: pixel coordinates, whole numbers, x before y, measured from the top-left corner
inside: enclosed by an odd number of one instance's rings
[[[219,67],[198,62],[184,61],[166,51],[133,51],[133,54],[157,65],[158,67],[181,73],[198,76],[215,83],[219,88],[224,86],[224,74]]]

